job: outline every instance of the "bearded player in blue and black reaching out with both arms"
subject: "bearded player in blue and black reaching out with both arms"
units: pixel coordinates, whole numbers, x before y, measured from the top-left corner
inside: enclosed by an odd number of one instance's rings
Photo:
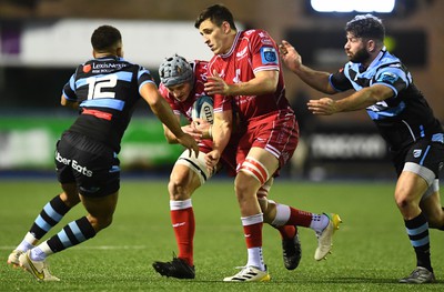
[[[302,81],[323,93],[355,91],[339,100],[310,100],[309,110],[330,115],[366,109],[390,147],[397,173],[394,198],[416,254],[416,268],[400,282],[434,282],[428,229],[444,229],[438,192],[438,173],[444,163],[443,127],[406,67],[386,50],[381,19],[356,16],[346,23],[345,32],[344,49],[350,62],[335,73],[304,66],[286,41],[280,46],[282,60]]]

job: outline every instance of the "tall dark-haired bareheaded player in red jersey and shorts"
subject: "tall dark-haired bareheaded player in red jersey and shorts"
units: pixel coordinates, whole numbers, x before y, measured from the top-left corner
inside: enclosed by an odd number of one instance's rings
[[[194,26],[214,53],[205,83],[205,91],[214,95],[213,150],[206,154],[208,167],[213,168],[219,162],[230,141],[233,110],[246,129],[236,149],[234,185],[248,262],[239,273],[224,281],[270,280],[262,256],[263,222],[313,229],[319,242],[314,256],[324,259],[331,251],[333,233],[339,229],[339,215],[314,214],[266,198],[273,178],[292,157],[299,139],[297,121],[285,98],[276,43],[264,30],[238,31],[232,13],[221,4],[202,11]],[[263,192],[258,195],[261,189]],[[282,235],[283,243],[292,242],[295,229]],[[287,251],[294,253],[294,246],[293,251],[291,245],[283,244],[283,248],[284,259]]]

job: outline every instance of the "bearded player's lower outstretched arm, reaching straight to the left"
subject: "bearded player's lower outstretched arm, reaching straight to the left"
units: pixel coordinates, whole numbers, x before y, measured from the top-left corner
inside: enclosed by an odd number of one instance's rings
[[[341,100],[335,101],[330,98],[323,98],[320,100],[310,100],[306,104],[313,114],[331,115],[336,112],[363,110],[393,95],[392,88],[383,84],[374,84]]]

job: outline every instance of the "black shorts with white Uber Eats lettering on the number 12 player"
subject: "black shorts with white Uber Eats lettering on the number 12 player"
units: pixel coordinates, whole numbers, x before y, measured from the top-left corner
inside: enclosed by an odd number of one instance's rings
[[[108,145],[65,131],[54,154],[60,183],[75,182],[85,197],[104,197],[120,189],[120,161]]]

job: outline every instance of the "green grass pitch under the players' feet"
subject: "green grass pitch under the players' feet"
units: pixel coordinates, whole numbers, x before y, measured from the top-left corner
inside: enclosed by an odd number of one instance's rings
[[[270,198],[312,212],[337,212],[343,224],[326,261],[313,259],[314,232],[300,229],[303,258],[294,271],[282,262],[279,233],[264,225],[268,283],[223,283],[245,264],[246,251],[231,181],[212,181],[193,197],[196,218],[194,280],[161,278],[151,268],[176,251],[167,180],[122,180],[113,224],[94,239],[50,258],[61,282],[38,283],[7,265],[41,207],[59,192],[53,181],[0,181],[0,291],[443,291],[444,233],[433,230],[436,284],[405,285],[415,259],[393,201],[394,183],[280,181]],[[72,210],[50,234],[83,215]]]

